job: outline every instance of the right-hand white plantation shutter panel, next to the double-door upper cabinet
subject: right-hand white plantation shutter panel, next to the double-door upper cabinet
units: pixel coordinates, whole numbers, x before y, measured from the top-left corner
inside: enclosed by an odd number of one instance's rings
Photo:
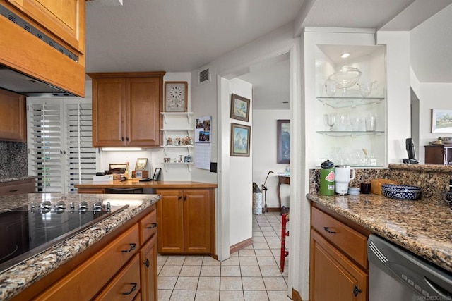
[[[77,191],[74,185],[93,180],[96,173],[91,101],[83,100],[84,102],[77,99],[65,103],[67,192]]]

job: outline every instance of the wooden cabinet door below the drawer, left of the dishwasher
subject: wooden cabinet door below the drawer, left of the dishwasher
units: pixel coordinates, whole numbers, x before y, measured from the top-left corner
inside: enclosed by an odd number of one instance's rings
[[[310,266],[309,300],[367,300],[368,275],[314,230]]]

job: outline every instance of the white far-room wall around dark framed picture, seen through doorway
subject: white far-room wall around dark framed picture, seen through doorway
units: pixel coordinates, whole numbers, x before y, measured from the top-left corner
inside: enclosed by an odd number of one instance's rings
[[[290,119],[290,110],[253,111],[253,182],[261,188],[268,171],[273,171],[266,182],[269,208],[279,207],[278,173],[284,173],[290,165],[278,164],[278,119]],[[280,190],[281,206],[289,207],[290,187],[281,185]]]

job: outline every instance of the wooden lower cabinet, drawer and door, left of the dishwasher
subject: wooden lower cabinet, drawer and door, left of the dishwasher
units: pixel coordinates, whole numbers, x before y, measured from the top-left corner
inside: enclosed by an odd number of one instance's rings
[[[352,226],[311,208],[309,300],[368,300],[368,235]]]

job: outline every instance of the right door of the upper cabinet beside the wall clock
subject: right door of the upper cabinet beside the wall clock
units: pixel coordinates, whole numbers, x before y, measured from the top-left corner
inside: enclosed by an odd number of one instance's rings
[[[127,79],[127,145],[160,145],[160,78]]]

